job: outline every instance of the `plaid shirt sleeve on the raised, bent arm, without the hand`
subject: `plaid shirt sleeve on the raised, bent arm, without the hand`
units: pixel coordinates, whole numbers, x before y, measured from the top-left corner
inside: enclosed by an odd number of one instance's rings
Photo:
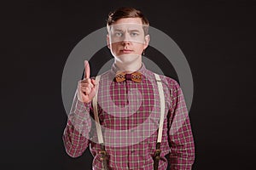
[[[81,156],[90,143],[90,110],[91,102],[85,104],[79,101],[76,92],[70,114],[67,116],[67,126],[62,136],[68,156]]]

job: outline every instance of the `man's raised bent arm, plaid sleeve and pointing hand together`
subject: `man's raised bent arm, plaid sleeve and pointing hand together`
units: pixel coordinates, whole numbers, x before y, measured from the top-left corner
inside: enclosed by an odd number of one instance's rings
[[[79,81],[62,137],[69,156],[81,156],[89,145],[91,100],[95,94],[95,80],[90,79],[90,65],[84,60],[84,79]]]

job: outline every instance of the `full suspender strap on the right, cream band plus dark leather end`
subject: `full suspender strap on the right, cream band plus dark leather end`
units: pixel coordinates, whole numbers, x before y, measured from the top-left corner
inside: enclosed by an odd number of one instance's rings
[[[156,150],[154,152],[154,170],[158,169],[159,161],[160,161],[160,144],[162,141],[162,132],[163,132],[163,124],[164,124],[164,116],[165,116],[165,95],[163,90],[163,85],[160,79],[160,76],[158,74],[154,73],[154,77],[157,82],[158,86],[158,92],[160,95],[160,123],[159,123],[159,129],[158,129],[158,137],[157,137],[157,143],[156,143]]]

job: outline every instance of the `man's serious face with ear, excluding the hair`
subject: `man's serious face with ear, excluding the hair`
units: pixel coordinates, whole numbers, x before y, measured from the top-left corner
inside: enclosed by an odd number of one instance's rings
[[[145,37],[140,18],[125,18],[109,26],[107,41],[115,59],[132,62],[142,57],[143,50],[148,47],[149,36]]]

